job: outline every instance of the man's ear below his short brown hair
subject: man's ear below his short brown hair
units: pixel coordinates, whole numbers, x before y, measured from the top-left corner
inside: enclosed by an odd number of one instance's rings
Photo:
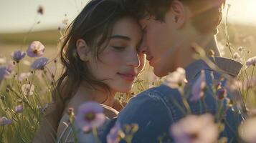
[[[185,11],[185,6],[181,1],[174,0],[171,3],[171,15],[172,20],[174,22],[174,26],[176,26],[176,29],[181,28],[184,26],[186,22],[186,11]]]

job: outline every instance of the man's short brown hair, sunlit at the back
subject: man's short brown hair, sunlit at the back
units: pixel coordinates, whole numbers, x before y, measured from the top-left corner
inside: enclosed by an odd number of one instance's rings
[[[138,19],[146,14],[164,21],[164,16],[174,0],[125,0],[127,9]],[[193,24],[202,33],[217,32],[216,27],[222,21],[222,9],[226,0],[179,0],[191,8],[194,13]]]

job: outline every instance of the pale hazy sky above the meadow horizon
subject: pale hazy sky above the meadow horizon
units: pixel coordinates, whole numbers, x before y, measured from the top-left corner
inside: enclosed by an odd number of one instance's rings
[[[57,29],[72,19],[87,0],[0,0],[0,33]],[[227,0],[231,4],[229,22],[256,25],[256,0]],[[44,14],[37,14],[39,6]],[[227,8],[227,6],[226,6]],[[35,24],[40,21],[40,24]],[[34,25],[34,26],[33,26]]]

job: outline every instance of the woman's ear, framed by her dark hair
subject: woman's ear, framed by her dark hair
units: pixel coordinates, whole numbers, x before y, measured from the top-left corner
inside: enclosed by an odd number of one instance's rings
[[[80,57],[80,59],[82,61],[88,61],[89,56],[90,56],[90,50],[89,50],[89,46],[87,46],[85,40],[78,39],[76,46],[77,46],[77,53],[78,53],[78,56]]]

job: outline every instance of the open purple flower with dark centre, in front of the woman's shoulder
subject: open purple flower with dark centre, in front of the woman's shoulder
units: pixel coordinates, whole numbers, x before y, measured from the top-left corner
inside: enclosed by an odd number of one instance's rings
[[[78,108],[75,122],[84,132],[102,126],[105,122],[103,107],[100,107],[100,104],[96,102],[85,102]]]

